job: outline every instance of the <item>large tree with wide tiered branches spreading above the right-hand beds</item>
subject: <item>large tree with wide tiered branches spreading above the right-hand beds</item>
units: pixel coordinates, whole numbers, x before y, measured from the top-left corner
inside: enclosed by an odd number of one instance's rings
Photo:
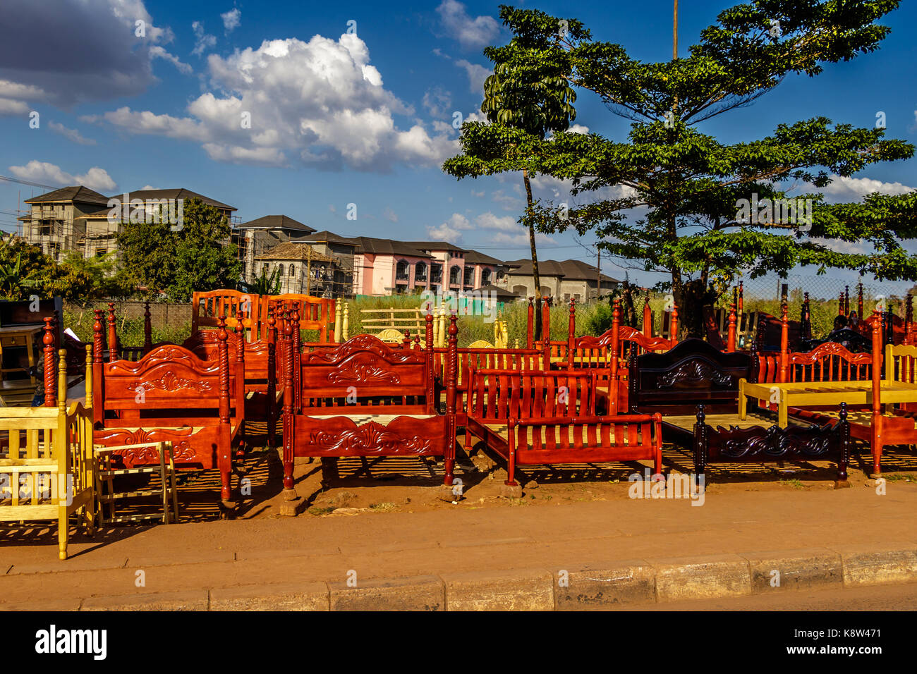
[[[725,144],[702,123],[750,105],[790,74],[813,77],[823,64],[878,49],[889,28],[876,22],[897,0],[751,0],[726,9],[705,28],[687,58],[642,62],[624,47],[591,39],[568,19],[501,7],[503,23],[523,40],[525,57],[505,68],[516,80],[559,73],[569,85],[598,94],[613,114],[632,120],[626,142],[598,133],[539,138],[503,124],[469,122],[460,142],[468,174],[539,172],[590,195],[569,210],[536,203],[522,219],[546,233],[571,227],[600,238],[619,260],[640,260],[667,273],[682,317],[682,336],[702,335],[702,307],[738,273],[752,278],[796,265],[856,269],[879,279],[915,279],[917,262],[902,241],[917,236],[917,199],[868,195],[862,204],[812,199],[812,222],[777,218],[762,207],[744,217],[740,204],[784,199],[790,183],[819,188],[879,161],[910,158],[913,146],[886,140],[879,128],[834,124],[826,117],[780,124],[766,138]],[[707,127],[704,127],[707,128]],[[486,154],[490,148],[491,155]],[[509,153],[506,148],[512,148]],[[451,172],[451,171],[450,171]],[[602,193],[598,193],[602,190]],[[633,221],[632,209],[641,209]],[[748,215],[746,213],[745,215]],[[866,240],[868,254],[838,252],[838,241]]]

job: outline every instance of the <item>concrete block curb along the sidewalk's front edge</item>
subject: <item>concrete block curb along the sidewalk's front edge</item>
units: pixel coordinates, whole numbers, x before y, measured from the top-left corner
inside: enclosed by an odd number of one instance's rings
[[[569,611],[917,582],[917,545],[646,558],[554,569],[253,584],[55,602],[81,611]],[[38,602],[6,610],[51,609]]]

